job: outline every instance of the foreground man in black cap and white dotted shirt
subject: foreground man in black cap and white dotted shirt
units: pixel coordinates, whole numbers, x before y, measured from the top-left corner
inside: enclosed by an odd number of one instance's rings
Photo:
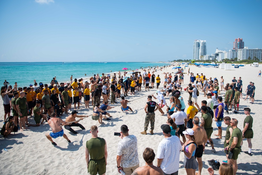
[[[172,136],[169,125],[161,125],[164,139],[159,143],[157,149],[157,167],[161,168],[165,175],[178,175],[179,154],[182,142],[177,136]]]

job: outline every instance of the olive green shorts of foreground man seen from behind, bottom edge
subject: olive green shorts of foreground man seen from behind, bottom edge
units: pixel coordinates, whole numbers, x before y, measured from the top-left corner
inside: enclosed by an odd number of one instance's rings
[[[106,173],[106,160],[105,158],[99,160],[90,159],[88,163],[88,173],[91,175]]]

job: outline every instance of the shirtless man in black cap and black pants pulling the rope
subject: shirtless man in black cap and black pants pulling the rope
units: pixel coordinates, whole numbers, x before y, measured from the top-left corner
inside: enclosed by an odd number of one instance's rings
[[[78,126],[78,127],[80,127],[81,129],[85,129],[85,127],[84,127],[83,125],[81,125],[80,123],[78,123],[79,121],[76,121],[75,118],[77,117],[77,118],[80,118],[79,120],[83,120],[83,118],[81,118],[81,117],[88,117],[88,115],[77,115],[77,113],[78,113],[78,112],[77,112],[76,110],[73,110],[72,113],[71,113],[71,115],[69,115],[69,116],[65,119],[66,122],[75,121],[74,123],[66,124],[66,125],[64,126],[65,129],[73,132],[74,134],[77,134],[77,132],[74,131],[74,130],[71,128],[72,126]]]

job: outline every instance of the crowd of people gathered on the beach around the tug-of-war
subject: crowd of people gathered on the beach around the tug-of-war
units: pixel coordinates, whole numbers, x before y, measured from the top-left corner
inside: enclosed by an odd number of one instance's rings
[[[165,73],[163,88],[161,89],[160,77],[155,75],[155,72],[164,68],[165,66],[160,68],[148,67],[148,70],[144,69],[142,73],[133,71],[132,75],[127,75],[127,72],[124,72],[123,76],[119,71],[117,74],[114,73],[112,77],[97,74],[91,77],[90,81],[85,82],[83,79],[74,79],[73,81],[71,76],[70,82],[58,83],[56,77],[54,77],[49,86],[43,83],[39,83],[39,86],[37,86],[38,84],[34,80],[34,85],[30,84],[29,87],[21,88],[15,84],[14,88],[12,88],[5,81],[4,86],[1,88],[5,113],[5,122],[1,134],[7,136],[13,132],[15,127],[23,131],[29,129],[29,126],[37,127],[44,122],[48,122],[52,132],[46,133],[46,137],[51,141],[52,145],[57,145],[52,139],[59,136],[63,136],[70,143],[71,141],[64,134],[62,126],[73,134],[77,134],[72,129],[73,126],[80,127],[82,130],[85,129],[83,125],[79,124],[79,121],[89,116],[77,115],[78,110],[81,110],[81,105],[89,108],[91,103],[93,106],[92,120],[98,120],[100,124],[103,124],[102,119],[111,120],[112,117],[107,112],[107,110],[113,108],[108,105],[109,100],[111,104],[120,103],[119,106],[123,112],[127,110],[133,112],[127,105],[129,101],[125,97],[137,94],[140,91],[148,91],[149,88],[152,90],[152,88],[155,88],[154,83],[156,83],[156,95],[153,93],[147,96],[148,102],[144,106],[146,114],[144,130],[141,134],[148,134],[147,130],[150,123],[149,133],[154,135],[155,112],[159,111],[160,115],[167,114],[166,124],[160,127],[164,139],[159,143],[157,149],[157,166],[153,165],[154,150],[146,148],[143,152],[145,166],[139,167],[137,137],[129,135],[128,126],[122,125],[120,132],[122,140],[118,143],[116,157],[118,172],[124,172],[126,175],[175,175],[179,171],[179,155],[182,151],[186,173],[201,175],[203,168],[202,156],[209,152],[205,152],[206,146],[209,144],[212,147],[211,151],[216,152],[214,142],[211,139],[213,133],[212,121],[214,119],[218,128],[218,133],[214,134],[217,140],[222,139],[222,123],[227,126],[224,141],[226,160],[221,165],[218,165],[217,162],[212,164],[213,166],[211,165],[212,168],[209,168],[208,172],[214,174],[214,170],[219,170],[221,175],[235,175],[238,169],[237,158],[242,150],[241,146],[245,138],[248,142],[248,151],[244,151],[244,153],[252,156],[253,118],[250,115],[251,110],[250,108],[239,109],[240,99],[243,99],[241,77],[238,80],[233,77],[232,82],[226,83],[223,76],[221,76],[220,90],[219,81],[216,77],[207,79],[203,73],[200,75],[197,73],[194,76],[193,72],[189,72],[189,84],[182,91],[184,73],[183,69],[181,69],[180,72],[174,74],[173,80],[171,73],[168,76],[168,73]],[[224,83],[226,83],[226,86],[224,86]],[[141,87],[144,87],[145,90],[141,89]],[[225,94],[222,96],[223,90]],[[130,95],[128,95],[129,92]],[[250,82],[245,92],[247,92],[247,96],[243,100],[250,97],[250,103],[254,104],[254,82]],[[121,93],[124,95],[121,95]],[[183,93],[189,93],[188,100],[182,97]],[[206,100],[198,102],[198,97],[202,93]],[[82,98],[84,99],[83,103]],[[118,98],[120,99],[119,102],[117,102]],[[169,105],[166,102],[167,98],[170,100]],[[102,105],[100,105],[101,101]],[[185,101],[188,101],[188,103],[185,103]],[[71,104],[74,104],[74,107]],[[167,107],[166,112],[163,109],[165,106]],[[10,115],[11,109],[13,115]],[[239,110],[244,110],[246,115],[242,131],[240,127],[238,128],[237,119],[226,116],[232,114],[231,111],[238,114]],[[70,115],[69,112],[71,112]],[[69,115],[65,121],[61,119],[64,113]],[[198,113],[201,113],[200,118],[196,116]],[[32,117],[32,115],[34,115],[35,124],[28,123],[28,116]],[[76,120],[76,118],[79,118],[79,120]],[[85,146],[88,172],[92,175],[97,173],[105,174],[107,165],[106,140],[98,137],[96,125],[90,128],[90,133],[92,137],[86,142]],[[210,160],[210,162],[215,162],[215,160]],[[198,169],[198,172],[196,172],[196,169]]]

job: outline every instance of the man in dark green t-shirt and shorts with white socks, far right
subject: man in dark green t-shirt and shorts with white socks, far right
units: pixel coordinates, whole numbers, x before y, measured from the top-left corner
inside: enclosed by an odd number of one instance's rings
[[[244,129],[242,131],[242,141],[240,146],[243,145],[243,139],[247,139],[248,142],[248,151],[244,151],[244,153],[248,154],[249,156],[252,156],[251,149],[252,149],[252,143],[251,139],[253,139],[253,117],[250,115],[250,108],[244,108],[244,114],[246,115],[246,118],[244,120]]]

